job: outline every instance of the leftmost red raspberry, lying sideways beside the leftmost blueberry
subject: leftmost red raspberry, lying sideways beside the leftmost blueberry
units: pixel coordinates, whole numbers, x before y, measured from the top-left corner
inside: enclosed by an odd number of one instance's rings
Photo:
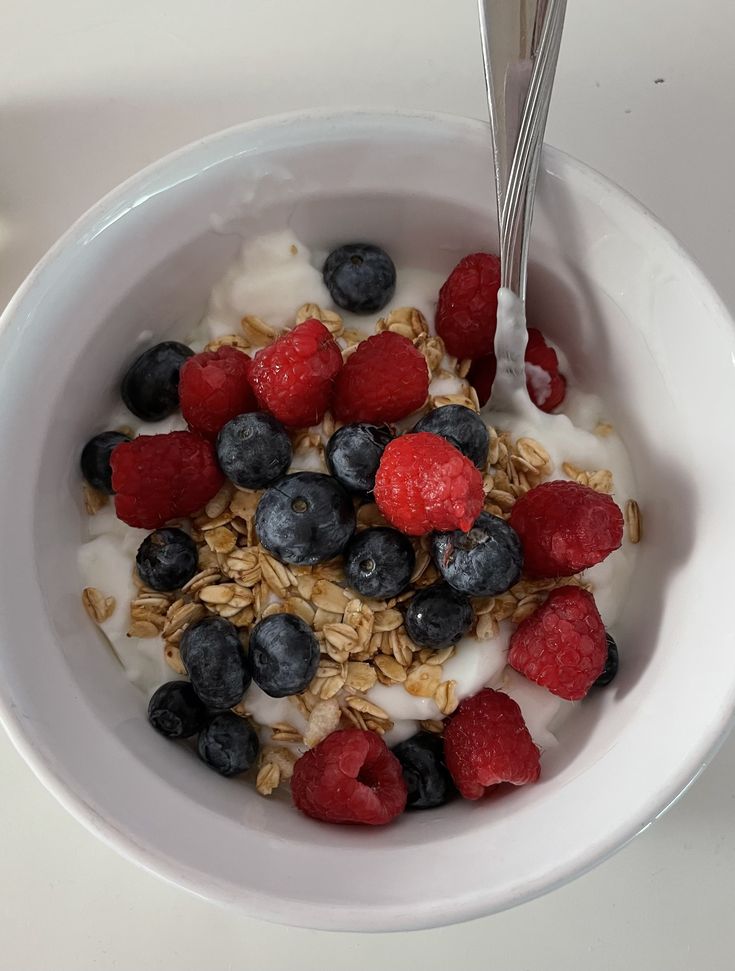
[[[191,515],[224,482],[212,445],[193,432],[139,435],[118,445],[110,464],[118,518],[143,529]]]

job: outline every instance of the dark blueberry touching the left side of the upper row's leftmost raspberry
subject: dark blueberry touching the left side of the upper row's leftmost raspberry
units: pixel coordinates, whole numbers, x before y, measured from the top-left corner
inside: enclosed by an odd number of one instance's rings
[[[120,393],[143,421],[160,421],[179,407],[179,371],[194,351],[178,341],[164,341],[136,357],[125,373]]]

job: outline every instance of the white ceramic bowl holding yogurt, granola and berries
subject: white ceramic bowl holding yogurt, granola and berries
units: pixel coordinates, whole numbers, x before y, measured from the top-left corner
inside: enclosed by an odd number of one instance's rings
[[[135,176],[41,261],[0,332],[2,719],[85,825],[150,870],[249,914],[426,927],[541,894],[648,825],[711,757],[735,700],[732,323],[641,206],[546,150],[530,307],[600,392],[633,457],[645,542],[615,684],[570,718],[537,785],[380,830],[324,826],[220,779],[153,733],[79,600],[77,461],[133,339],[202,314],[240,242],[386,244],[448,270],[493,246],[485,125],[313,113],[207,138]],[[214,223],[219,231],[213,229]]]

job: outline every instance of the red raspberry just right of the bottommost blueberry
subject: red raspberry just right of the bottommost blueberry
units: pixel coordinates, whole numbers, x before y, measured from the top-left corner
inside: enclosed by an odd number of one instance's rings
[[[480,799],[501,782],[535,782],[540,771],[521,709],[492,688],[461,702],[444,732],[444,761],[465,799]]]

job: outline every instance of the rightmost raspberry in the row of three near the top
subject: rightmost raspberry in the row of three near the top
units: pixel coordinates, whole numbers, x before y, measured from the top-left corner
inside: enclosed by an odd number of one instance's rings
[[[407,337],[383,331],[361,341],[337,378],[334,414],[343,422],[400,421],[429,394],[423,354]]]

